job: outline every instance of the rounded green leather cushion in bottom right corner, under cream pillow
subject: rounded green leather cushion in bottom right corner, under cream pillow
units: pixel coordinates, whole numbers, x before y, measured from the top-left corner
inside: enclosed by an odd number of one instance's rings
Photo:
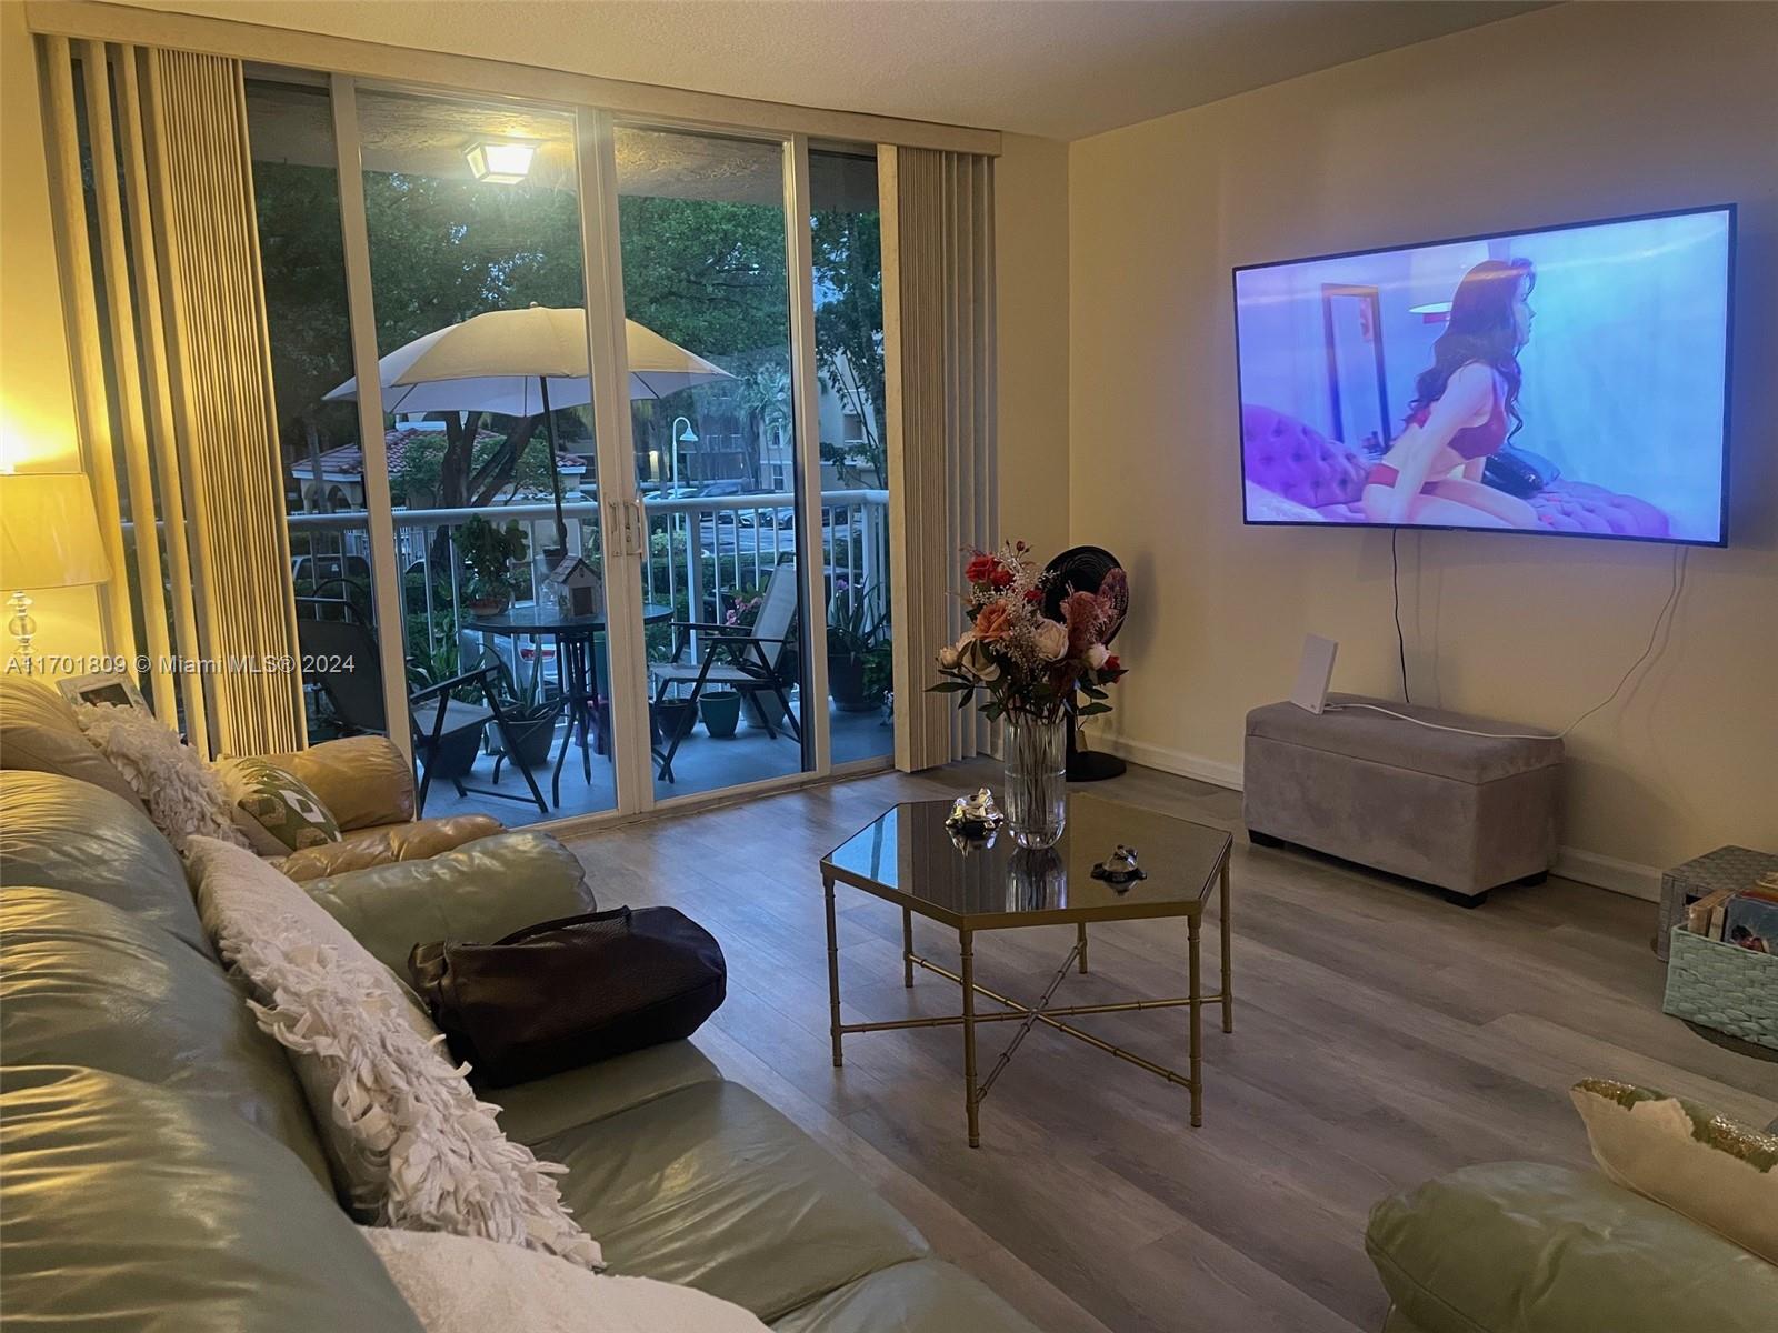
[[[1561,1166],[1467,1166],[1387,1198],[1366,1251],[1424,1333],[1769,1333],[1778,1310],[1778,1267]]]

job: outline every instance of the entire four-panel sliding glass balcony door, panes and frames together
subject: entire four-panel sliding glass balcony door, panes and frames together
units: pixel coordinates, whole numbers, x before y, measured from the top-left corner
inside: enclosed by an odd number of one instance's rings
[[[311,739],[507,823],[887,755],[873,156],[276,71],[249,112],[299,627],[357,649]]]

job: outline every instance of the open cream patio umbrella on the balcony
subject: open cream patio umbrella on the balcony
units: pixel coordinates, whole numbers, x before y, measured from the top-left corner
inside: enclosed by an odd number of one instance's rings
[[[629,398],[663,398],[693,384],[731,379],[729,371],[686,352],[635,320],[624,320]],[[562,478],[555,469],[557,407],[592,402],[587,311],[530,306],[498,309],[452,323],[398,347],[377,363],[384,412],[544,414],[549,435],[549,485],[555,491],[557,546],[567,546]],[[327,402],[356,400],[357,379],[327,393]]]

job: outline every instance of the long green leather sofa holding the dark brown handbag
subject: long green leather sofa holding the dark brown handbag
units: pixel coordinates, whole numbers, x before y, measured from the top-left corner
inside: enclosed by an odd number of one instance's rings
[[[0,885],[5,1321],[418,1333],[142,810],[0,771]],[[544,834],[311,890],[391,963],[441,926],[489,938],[587,906],[578,862]],[[690,1043],[493,1100],[512,1137],[567,1164],[562,1193],[619,1273],[690,1283],[784,1333],[1031,1333]]]

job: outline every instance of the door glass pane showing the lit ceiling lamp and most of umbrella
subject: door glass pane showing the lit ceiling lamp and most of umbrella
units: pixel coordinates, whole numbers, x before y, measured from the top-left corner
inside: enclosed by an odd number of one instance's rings
[[[615,809],[574,117],[361,89],[357,139],[428,809]]]

